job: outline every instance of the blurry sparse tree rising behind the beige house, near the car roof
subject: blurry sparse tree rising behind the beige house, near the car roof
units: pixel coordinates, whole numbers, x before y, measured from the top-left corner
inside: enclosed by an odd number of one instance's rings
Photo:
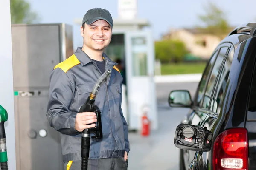
[[[232,28],[227,21],[224,11],[222,11],[214,3],[209,2],[207,6],[204,6],[205,15],[199,15],[205,28],[198,28],[201,32],[217,35],[218,37],[226,36]]]

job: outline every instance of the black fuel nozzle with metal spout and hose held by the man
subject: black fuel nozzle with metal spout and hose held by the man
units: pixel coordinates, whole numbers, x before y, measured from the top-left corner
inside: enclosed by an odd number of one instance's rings
[[[81,143],[81,158],[82,158],[82,170],[87,170],[88,167],[88,158],[90,152],[90,134],[91,132],[95,135],[92,136],[93,139],[102,139],[102,123],[101,123],[101,111],[94,104],[95,97],[99,91],[99,86],[101,83],[111,74],[111,70],[105,71],[101,77],[97,80],[96,84],[93,87],[93,91],[90,92],[90,96],[87,98],[87,101],[79,108],[79,113],[82,112],[95,112],[97,116],[96,126],[90,129],[84,129],[82,132],[82,143]]]

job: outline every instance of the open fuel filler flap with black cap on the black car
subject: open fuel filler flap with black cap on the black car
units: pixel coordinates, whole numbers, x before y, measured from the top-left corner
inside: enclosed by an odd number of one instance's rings
[[[180,149],[209,152],[211,143],[212,132],[206,127],[180,124],[176,128],[174,144]]]

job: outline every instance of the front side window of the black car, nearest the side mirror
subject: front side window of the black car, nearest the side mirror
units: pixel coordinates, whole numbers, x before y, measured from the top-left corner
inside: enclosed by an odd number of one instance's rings
[[[202,76],[202,79],[201,79],[201,82],[200,82],[199,88],[198,88],[197,103],[196,103],[197,106],[199,106],[199,104],[201,103],[203,93],[204,93],[204,87],[207,82],[207,77],[211,71],[212,65],[214,64],[217,55],[218,55],[218,50],[215,51],[215,53],[212,55],[209,63],[207,64],[207,66],[205,68],[204,74]]]

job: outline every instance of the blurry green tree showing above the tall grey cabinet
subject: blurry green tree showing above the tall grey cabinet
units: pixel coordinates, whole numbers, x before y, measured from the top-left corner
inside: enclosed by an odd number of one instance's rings
[[[39,21],[38,15],[31,11],[30,4],[25,0],[10,0],[11,22],[35,23]]]

